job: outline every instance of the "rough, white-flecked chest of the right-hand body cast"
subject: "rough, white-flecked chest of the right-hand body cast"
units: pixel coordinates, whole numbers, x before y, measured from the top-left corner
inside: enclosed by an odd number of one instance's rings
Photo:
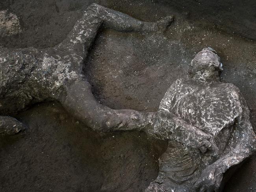
[[[178,79],[166,92],[159,109],[215,136],[241,115],[240,98],[239,89],[230,83]]]

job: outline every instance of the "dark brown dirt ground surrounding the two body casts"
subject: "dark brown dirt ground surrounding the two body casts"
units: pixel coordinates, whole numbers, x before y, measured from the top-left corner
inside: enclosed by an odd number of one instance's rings
[[[16,14],[22,33],[0,43],[54,46],[93,2],[145,21],[175,15],[164,33],[99,33],[84,72],[100,103],[156,111],[171,83],[187,78],[194,55],[210,46],[221,57],[222,81],[243,93],[256,131],[254,0],[1,0],[0,11]],[[143,132],[98,135],[59,103],[39,103],[14,116],[28,129],[0,137],[1,192],[143,192],[158,175],[158,157],[167,147]],[[237,191],[256,192],[256,155],[224,188]]]

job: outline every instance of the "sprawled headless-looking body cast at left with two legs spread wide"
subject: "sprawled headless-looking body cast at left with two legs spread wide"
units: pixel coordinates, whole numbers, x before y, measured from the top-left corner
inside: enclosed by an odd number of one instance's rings
[[[151,113],[115,110],[100,105],[82,74],[87,52],[101,27],[124,32],[151,32],[166,28],[173,17],[143,22],[92,4],[67,38],[53,48],[0,47],[0,134],[19,132],[24,125],[9,117],[29,105],[57,100],[67,111],[96,131],[142,129]]]

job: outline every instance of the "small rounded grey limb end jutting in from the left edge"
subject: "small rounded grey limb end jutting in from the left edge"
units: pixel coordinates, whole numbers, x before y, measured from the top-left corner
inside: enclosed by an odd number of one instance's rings
[[[24,124],[9,116],[0,116],[0,135],[14,135],[25,129]]]

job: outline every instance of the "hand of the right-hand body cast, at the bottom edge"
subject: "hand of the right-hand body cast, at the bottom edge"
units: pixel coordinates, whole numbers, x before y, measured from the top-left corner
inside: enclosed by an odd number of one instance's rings
[[[210,165],[202,171],[194,185],[194,190],[198,192],[218,192],[222,178],[223,174],[217,172],[217,168]]]

